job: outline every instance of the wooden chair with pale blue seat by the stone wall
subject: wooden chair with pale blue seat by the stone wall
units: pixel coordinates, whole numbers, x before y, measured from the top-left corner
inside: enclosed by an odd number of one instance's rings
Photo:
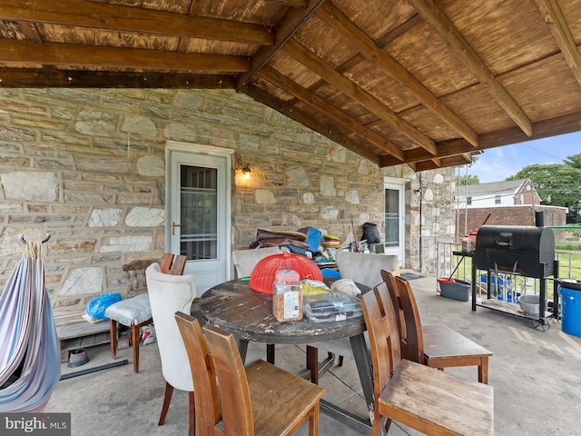
[[[175,261],[173,258],[175,257]],[[164,253],[162,257],[162,272],[166,274],[182,275],[187,261],[186,256]],[[111,357],[117,357],[117,336],[119,324],[131,329],[133,348],[133,372],[139,372],[140,330],[144,325],[153,322],[152,308],[147,295],[145,270],[156,260],[133,261],[123,265],[127,275],[127,290],[130,298],[115,302],[105,310],[105,316],[110,319],[109,336],[111,339]]]

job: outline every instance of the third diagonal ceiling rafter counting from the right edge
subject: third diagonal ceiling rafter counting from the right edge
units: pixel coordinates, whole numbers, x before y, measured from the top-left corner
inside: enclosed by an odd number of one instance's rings
[[[426,86],[421,84],[416,77],[410,74],[393,57],[379,48],[368,35],[351,23],[349,18],[343,15],[339,9],[329,3],[325,3],[318,9],[317,15],[341,35],[345,35],[351,44],[358,47],[361,54],[370,61],[377,63],[400,84],[409,88],[409,91],[415,94],[426,107],[438,114],[442,120],[448,123],[470,144],[478,147],[478,134],[464,120],[446,104],[440,102],[436,95],[432,94]]]

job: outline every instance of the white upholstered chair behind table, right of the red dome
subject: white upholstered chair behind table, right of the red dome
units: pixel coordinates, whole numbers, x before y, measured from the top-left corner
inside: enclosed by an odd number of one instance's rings
[[[396,274],[399,272],[398,256],[393,254],[338,251],[336,253],[336,261],[341,279],[351,279],[353,282],[364,284],[371,289],[383,282],[381,270]],[[365,340],[369,343],[367,332],[365,333]],[[353,357],[349,338],[307,344],[307,367],[310,369],[310,380],[314,383],[319,381],[319,372],[321,370],[318,350],[338,355],[339,366],[343,364],[343,356]],[[322,369],[328,367],[330,362],[332,362],[331,357],[323,363]]]

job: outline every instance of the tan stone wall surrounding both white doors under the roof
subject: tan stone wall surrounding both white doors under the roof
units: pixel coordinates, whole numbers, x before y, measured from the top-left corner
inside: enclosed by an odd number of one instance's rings
[[[233,91],[0,89],[0,285],[24,247],[52,235],[46,285],[57,310],[83,310],[124,292],[122,265],[164,251],[166,141],[235,151],[232,249],[257,228],[314,226],[346,236],[351,220],[383,231],[384,176],[407,183],[407,254],[418,236],[453,235],[450,170],[380,169],[271,108]],[[419,217],[419,203],[422,217]]]

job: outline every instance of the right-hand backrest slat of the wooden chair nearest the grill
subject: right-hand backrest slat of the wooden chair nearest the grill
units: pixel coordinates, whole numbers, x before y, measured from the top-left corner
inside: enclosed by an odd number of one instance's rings
[[[399,294],[400,309],[406,322],[406,338],[401,342],[401,355],[409,361],[425,364],[424,336],[421,331],[418,304],[409,282],[396,277],[396,287]]]

